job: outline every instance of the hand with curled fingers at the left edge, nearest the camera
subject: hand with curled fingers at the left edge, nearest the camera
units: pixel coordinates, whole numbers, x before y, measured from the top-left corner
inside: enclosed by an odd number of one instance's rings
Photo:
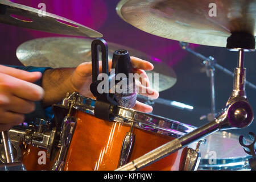
[[[0,131],[9,130],[24,121],[24,114],[35,110],[33,101],[42,100],[44,90],[32,84],[40,72],[26,72],[0,65]]]

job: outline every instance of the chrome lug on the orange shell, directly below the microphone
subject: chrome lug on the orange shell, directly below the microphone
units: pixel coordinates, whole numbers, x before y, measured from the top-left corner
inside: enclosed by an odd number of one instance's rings
[[[131,152],[133,151],[135,135],[132,133],[134,122],[131,124],[131,129],[126,133],[125,138],[123,138],[123,143],[121,147],[121,153],[118,162],[118,168],[127,164],[129,162]]]

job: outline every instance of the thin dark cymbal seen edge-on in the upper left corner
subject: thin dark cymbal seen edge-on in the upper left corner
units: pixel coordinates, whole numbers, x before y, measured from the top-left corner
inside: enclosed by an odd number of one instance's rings
[[[72,20],[7,0],[0,1],[0,22],[54,34],[100,38],[102,34]]]

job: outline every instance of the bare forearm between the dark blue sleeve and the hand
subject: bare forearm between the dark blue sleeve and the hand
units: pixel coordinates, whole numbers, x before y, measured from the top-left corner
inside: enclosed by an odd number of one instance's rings
[[[42,87],[44,89],[43,105],[51,106],[60,102],[67,92],[75,92],[72,88],[70,77],[75,68],[48,69],[44,72],[42,78]]]

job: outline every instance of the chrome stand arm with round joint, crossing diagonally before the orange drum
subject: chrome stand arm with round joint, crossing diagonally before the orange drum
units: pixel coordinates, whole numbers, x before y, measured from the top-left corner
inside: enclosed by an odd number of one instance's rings
[[[235,69],[234,73],[233,92],[228,102],[226,102],[226,107],[222,109],[214,121],[199,127],[183,137],[174,139],[116,170],[139,170],[218,130],[242,129],[249,126],[253,122],[254,114],[249,102],[246,100],[246,69],[243,68],[243,49],[239,51],[239,55],[238,68]]]

